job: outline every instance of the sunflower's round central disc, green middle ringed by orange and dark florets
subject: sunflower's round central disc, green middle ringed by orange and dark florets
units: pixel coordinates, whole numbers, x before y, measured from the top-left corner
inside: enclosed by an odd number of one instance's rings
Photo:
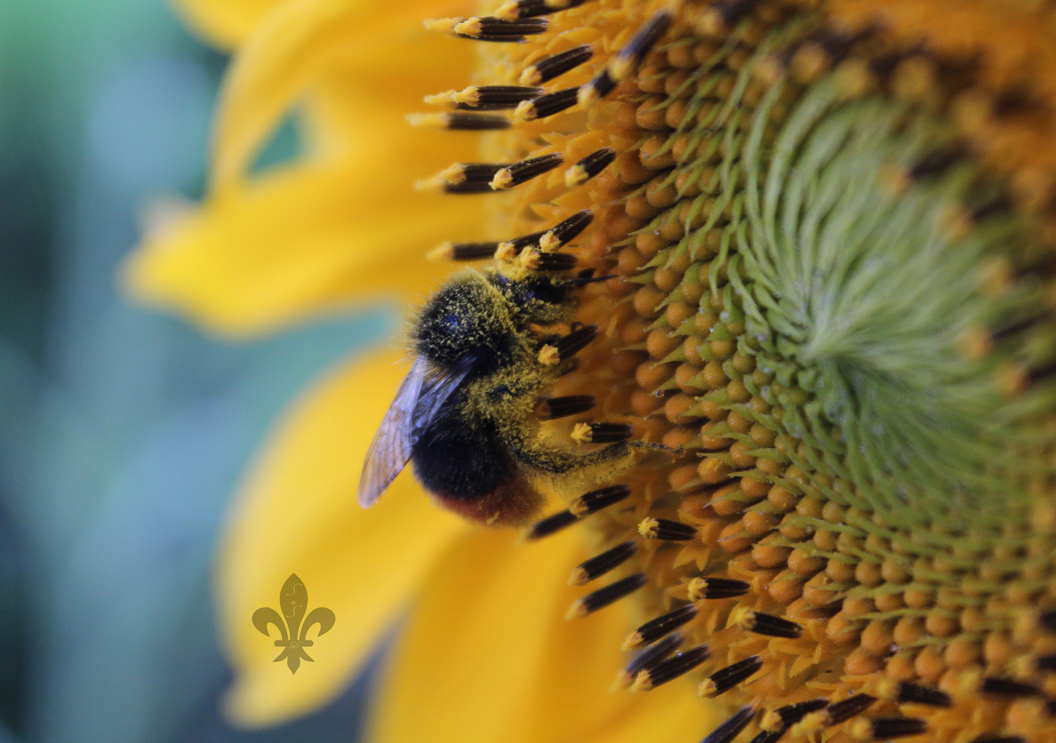
[[[653,5],[439,24],[526,41],[486,54],[506,89],[438,97],[517,165],[441,185],[516,187],[529,235],[592,211],[565,252],[614,277],[578,313],[603,339],[558,392],[678,450],[534,529],[597,513],[573,582],[625,571],[571,613],[642,596],[622,683],[729,700],[711,743],[1052,740],[1056,263],[964,134],[973,66],[796,3]]]

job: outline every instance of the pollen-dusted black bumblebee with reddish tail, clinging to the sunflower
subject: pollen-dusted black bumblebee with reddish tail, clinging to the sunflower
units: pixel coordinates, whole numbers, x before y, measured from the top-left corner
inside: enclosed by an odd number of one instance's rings
[[[593,406],[588,395],[545,398],[598,336],[597,326],[569,322],[576,289],[611,277],[574,275],[576,258],[554,252],[590,217],[580,212],[527,245],[498,245],[498,268],[463,270],[425,303],[410,334],[414,364],[366,455],[361,506],[373,506],[412,461],[444,507],[472,521],[518,525],[543,504],[547,476],[618,469],[636,449],[658,446],[628,441],[631,426],[619,423],[577,426],[577,440],[610,444],[589,454],[542,435],[542,420]],[[570,329],[547,331],[557,326]]]

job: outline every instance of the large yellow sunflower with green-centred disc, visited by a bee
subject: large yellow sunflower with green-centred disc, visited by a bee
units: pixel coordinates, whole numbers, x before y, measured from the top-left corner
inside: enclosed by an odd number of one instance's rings
[[[410,606],[377,740],[1056,740],[1050,3],[186,6],[237,55],[136,296],[262,332],[419,299],[437,243],[574,256],[554,331],[598,337],[543,432],[666,452],[525,544],[406,474],[361,512],[398,355],[334,373],[231,518],[233,719],[332,698]],[[309,151],[248,175],[295,104]],[[343,623],[297,677],[249,622],[290,570]]]

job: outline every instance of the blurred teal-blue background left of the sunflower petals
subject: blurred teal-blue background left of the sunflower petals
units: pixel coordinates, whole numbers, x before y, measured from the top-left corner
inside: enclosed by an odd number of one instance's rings
[[[390,315],[225,345],[115,281],[149,205],[201,195],[225,61],[164,0],[0,0],[0,743],[357,738],[363,681],[223,722],[209,568],[277,415]]]

